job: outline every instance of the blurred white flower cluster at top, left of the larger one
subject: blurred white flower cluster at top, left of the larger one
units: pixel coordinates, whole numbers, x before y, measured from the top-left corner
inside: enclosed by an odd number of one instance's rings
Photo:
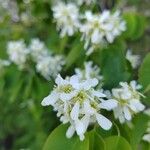
[[[65,4],[59,2],[53,6],[52,10],[60,36],[72,36],[79,26],[79,10],[77,6],[74,3]]]

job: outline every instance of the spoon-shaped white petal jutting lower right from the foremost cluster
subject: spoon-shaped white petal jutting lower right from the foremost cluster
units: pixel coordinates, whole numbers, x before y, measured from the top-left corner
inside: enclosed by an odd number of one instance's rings
[[[108,120],[106,117],[104,117],[101,114],[96,114],[96,119],[98,124],[104,129],[109,130],[112,126],[112,123],[110,120]]]

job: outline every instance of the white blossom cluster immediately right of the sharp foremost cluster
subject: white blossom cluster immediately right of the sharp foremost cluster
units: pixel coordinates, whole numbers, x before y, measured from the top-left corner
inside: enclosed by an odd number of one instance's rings
[[[115,118],[119,119],[120,123],[124,123],[130,121],[134,114],[143,111],[145,106],[140,102],[140,97],[143,95],[137,91],[141,85],[131,81],[130,84],[120,82],[120,86],[112,89],[112,98],[118,101],[118,106],[113,111]]]

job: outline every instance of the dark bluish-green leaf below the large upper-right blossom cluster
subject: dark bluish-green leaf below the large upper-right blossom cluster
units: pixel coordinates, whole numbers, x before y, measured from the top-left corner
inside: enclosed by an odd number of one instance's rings
[[[125,46],[123,42],[116,42],[101,52],[100,56],[104,86],[111,89],[118,86],[120,81],[127,81],[130,73],[125,59]]]

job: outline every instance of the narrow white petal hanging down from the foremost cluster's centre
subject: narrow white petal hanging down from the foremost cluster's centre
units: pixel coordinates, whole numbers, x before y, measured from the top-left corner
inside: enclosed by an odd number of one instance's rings
[[[70,113],[70,116],[73,120],[77,120],[79,117],[79,109],[80,109],[80,104],[79,102],[76,102],[75,105],[72,108],[72,111]]]

